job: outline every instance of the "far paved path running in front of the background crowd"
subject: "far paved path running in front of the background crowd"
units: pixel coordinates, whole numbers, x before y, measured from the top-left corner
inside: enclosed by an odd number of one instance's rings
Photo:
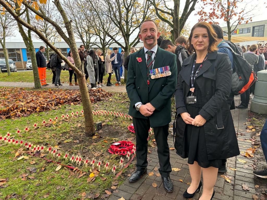
[[[49,83],[49,86],[43,88],[60,88],[60,89],[73,89],[78,90],[79,86],[69,86],[69,84],[63,83],[61,87],[55,87],[54,84]],[[26,82],[2,82],[0,81],[0,87],[34,87],[34,83]],[[91,85],[88,86],[88,89],[91,88]],[[126,92],[125,86],[103,86],[102,89],[108,92]]]

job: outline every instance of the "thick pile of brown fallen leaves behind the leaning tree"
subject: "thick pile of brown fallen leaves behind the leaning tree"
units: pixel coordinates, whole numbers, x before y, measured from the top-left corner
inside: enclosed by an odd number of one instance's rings
[[[112,93],[102,89],[89,90],[91,103],[105,100]],[[58,109],[60,105],[81,103],[79,90],[26,90],[22,88],[0,88],[0,120],[26,117],[32,113]]]

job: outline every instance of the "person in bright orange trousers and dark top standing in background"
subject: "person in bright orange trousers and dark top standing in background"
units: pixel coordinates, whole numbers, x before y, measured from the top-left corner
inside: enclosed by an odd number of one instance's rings
[[[44,56],[44,52],[45,52],[45,47],[40,46],[39,51],[36,52],[35,56],[36,56],[36,62],[41,85],[47,86],[49,84],[46,83],[46,59]]]

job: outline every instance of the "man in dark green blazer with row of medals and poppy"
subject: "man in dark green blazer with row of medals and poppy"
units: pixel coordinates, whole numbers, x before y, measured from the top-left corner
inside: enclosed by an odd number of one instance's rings
[[[171,122],[171,96],[177,83],[176,55],[159,48],[159,36],[156,23],[144,21],[139,33],[144,48],[131,54],[128,64],[126,90],[131,101],[129,115],[133,117],[135,127],[137,159],[137,170],[129,182],[136,182],[147,173],[147,138],[152,127],[158,146],[159,173],[164,189],[172,192],[167,137]]]

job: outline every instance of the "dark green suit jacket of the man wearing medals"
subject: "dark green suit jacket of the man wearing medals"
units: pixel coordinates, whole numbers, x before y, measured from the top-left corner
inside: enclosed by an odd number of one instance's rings
[[[142,58],[142,61],[138,62],[137,58]],[[130,99],[129,115],[149,119],[151,127],[164,126],[171,122],[171,96],[177,83],[176,55],[158,46],[153,69],[165,66],[170,66],[171,75],[150,78],[148,86],[144,49],[131,54],[128,64],[126,90]],[[145,117],[135,109],[137,102],[142,104],[150,102],[156,110],[149,117]]]

